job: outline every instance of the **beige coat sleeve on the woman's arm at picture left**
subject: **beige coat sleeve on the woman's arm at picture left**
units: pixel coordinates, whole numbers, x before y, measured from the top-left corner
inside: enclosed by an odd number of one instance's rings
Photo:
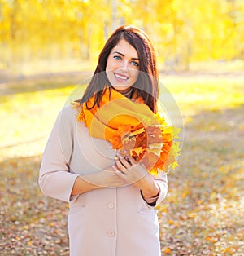
[[[45,196],[61,201],[74,201],[71,196],[76,174],[69,171],[72,157],[73,126],[68,114],[59,113],[41,161],[39,186]]]

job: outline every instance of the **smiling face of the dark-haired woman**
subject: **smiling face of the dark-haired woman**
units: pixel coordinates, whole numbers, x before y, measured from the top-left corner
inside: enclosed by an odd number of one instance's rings
[[[121,39],[111,49],[107,58],[106,74],[111,86],[124,93],[137,81],[139,57],[137,50],[129,42]]]

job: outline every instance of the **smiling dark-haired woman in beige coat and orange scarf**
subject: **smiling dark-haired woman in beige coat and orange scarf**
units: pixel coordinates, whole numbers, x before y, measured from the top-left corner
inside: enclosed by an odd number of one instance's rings
[[[154,207],[167,194],[166,174],[155,178],[142,162],[114,149],[120,127],[153,119],[157,97],[150,39],[135,27],[116,29],[80,108],[59,113],[41,162],[43,194],[70,205],[71,255],[161,255]]]

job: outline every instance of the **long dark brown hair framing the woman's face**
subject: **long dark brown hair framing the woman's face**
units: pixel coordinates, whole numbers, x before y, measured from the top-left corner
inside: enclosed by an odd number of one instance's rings
[[[94,108],[95,105],[99,107],[105,89],[109,87],[111,90],[111,84],[106,74],[107,58],[112,48],[114,48],[121,39],[126,40],[136,49],[140,60],[140,73],[137,77],[137,81],[132,86],[133,91],[131,95],[136,93],[137,97],[142,97],[144,103],[149,106],[153,113],[156,113],[157,99],[159,97],[159,74],[156,64],[155,49],[146,33],[133,26],[121,26],[107,39],[99,55],[98,65],[94,71],[94,75],[84,95],[81,99],[77,100],[77,102],[80,104],[86,103],[87,100],[94,95],[94,105],[91,108]]]

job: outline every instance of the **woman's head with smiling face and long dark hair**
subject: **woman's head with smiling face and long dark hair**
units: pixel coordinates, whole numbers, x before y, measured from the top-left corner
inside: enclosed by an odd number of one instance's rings
[[[110,59],[121,64],[115,64]],[[98,104],[99,107],[104,88],[121,85],[121,81],[124,82],[124,76],[128,77],[124,71],[133,73],[132,77],[134,78],[137,77],[131,86],[132,91],[129,97],[135,94],[137,98],[142,97],[144,103],[153,113],[156,113],[156,101],[159,97],[159,73],[155,49],[146,33],[135,27],[120,27],[107,39],[99,55],[94,77],[79,102],[85,103],[94,95],[94,105]],[[132,79],[132,77],[130,78]],[[122,90],[129,88],[129,86],[125,87]],[[118,90],[118,88],[115,89]]]

